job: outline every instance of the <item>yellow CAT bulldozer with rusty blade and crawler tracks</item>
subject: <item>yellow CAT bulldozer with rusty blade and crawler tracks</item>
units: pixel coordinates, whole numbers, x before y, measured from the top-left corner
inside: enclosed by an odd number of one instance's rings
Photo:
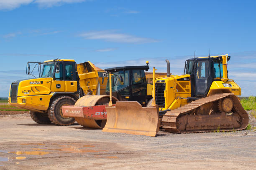
[[[160,126],[171,133],[246,129],[248,114],[237,97],[241,88],[228,78],[228,60],[228,55],[192,58],[183,75],[170,75],[168,64],[167,76],[154,79],[151,107],[123,101],[105,107],[103,131],[155,136]],[[158,125],[152,123],[157,115]]]

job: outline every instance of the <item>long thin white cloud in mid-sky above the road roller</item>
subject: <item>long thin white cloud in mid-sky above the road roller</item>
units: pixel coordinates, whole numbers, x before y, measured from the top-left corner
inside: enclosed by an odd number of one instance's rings
[[[84,32],[78,36],[84,37],[88,40],[105,40],[109,42],[123,42],[123,43],[150,43],[159,42],[151,38],[136,37],[134,35],[117,33],[115,30],[104,30],[104,31],[91,31]]]

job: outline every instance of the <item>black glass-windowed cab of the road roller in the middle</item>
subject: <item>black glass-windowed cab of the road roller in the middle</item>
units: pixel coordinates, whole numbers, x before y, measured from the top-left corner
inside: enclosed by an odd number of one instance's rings
[[[148,71],[148,65],[113,67],[105,69],[111,72],[112,94],[120,101],[138,101],[141,105],[146,104],[147,82],[144,70]],[[106,93],[109,94],[109,80]]]

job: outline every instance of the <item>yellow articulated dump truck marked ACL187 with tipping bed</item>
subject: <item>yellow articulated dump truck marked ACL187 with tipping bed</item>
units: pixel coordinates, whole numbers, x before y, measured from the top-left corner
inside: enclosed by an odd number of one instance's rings
[[[75,120],[63,116],[62,106],[74,105],[79,96],[85,94],[105,94],[107,74],[89,61],[81,64],[61,59],[28,62],[28,75],[35,68],[30,69],[33,63],[40,65],[38,71],[41,74],[32,79],[12,82],[8,102],[30,110],[31,118],[37,123],[71,125]]]

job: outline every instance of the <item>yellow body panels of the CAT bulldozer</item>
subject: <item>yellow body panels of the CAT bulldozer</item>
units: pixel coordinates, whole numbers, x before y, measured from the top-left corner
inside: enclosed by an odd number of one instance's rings
[[[211,56],[213,58],[220,56]],[[227,59],[226,55],[222,55],[223,76],[222,78],[215,78],[210,85],[207,96],[217,93],[229,92],[234,95],[241,95],[241,87],[239,87],[234,80],[228,79],[227,73]],[[199,57],[208,58],[208,57]],[[186,75],[171,75],[170,77],[156,77],[156,83],[165,83],[164,90],[164,107],[159,107],[159,110],[173,110],[182,105],[187,104],[187,97],[191,96],[191,77]],[[157,99],[156,99],[157,100]]]

